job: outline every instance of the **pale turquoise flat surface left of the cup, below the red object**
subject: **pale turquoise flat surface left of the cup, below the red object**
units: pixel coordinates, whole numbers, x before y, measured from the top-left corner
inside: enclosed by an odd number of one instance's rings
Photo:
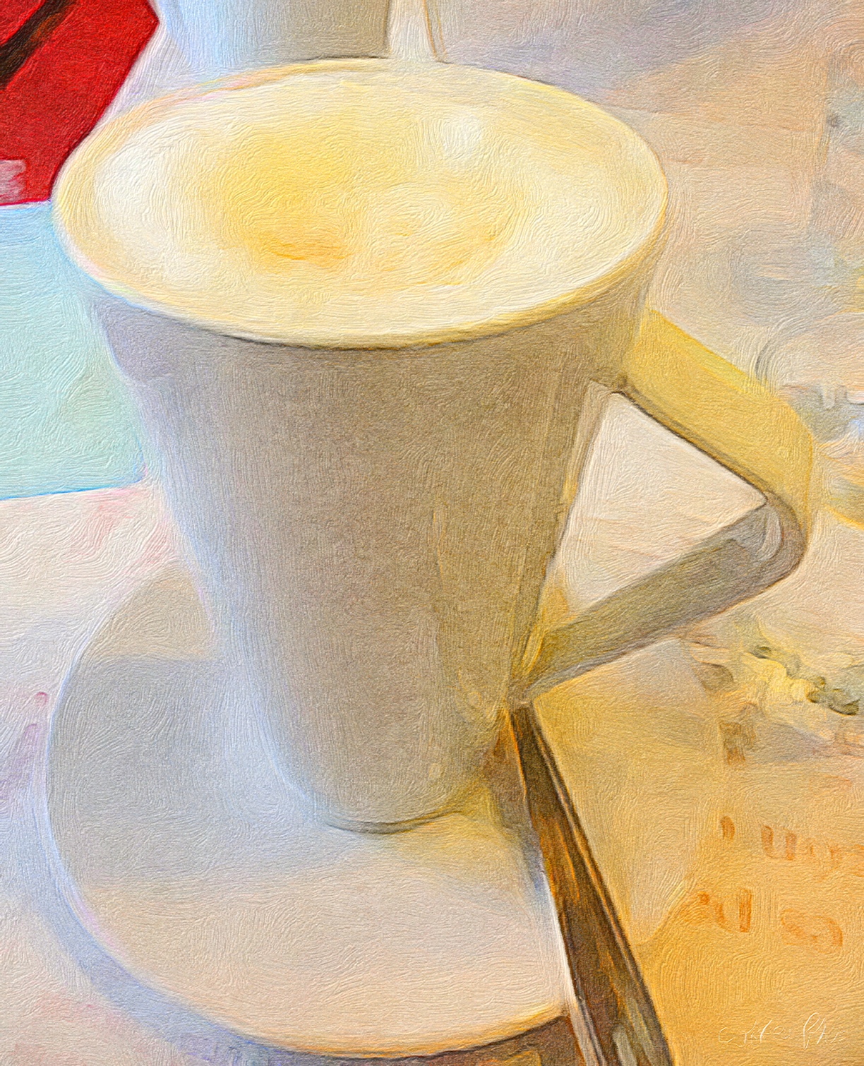
[[[137,422],[49,204],[0,208],[0,499],[128,485]]]

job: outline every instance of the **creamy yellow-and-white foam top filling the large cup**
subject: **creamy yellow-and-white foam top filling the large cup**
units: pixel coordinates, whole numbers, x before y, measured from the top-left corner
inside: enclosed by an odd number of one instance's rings
[[[626,126],[446,64],[325,61],[145,104],[54,192],[81,265],[235,336],[397,346],[494,333],[602,291],[666,197]]]

